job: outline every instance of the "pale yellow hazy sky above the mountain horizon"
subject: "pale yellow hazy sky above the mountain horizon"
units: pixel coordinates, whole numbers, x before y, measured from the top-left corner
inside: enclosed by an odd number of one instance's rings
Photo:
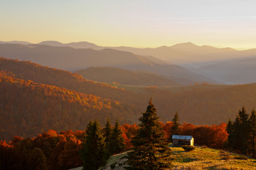
[[[255,0],[0,0],[0,41],[256,48]]]

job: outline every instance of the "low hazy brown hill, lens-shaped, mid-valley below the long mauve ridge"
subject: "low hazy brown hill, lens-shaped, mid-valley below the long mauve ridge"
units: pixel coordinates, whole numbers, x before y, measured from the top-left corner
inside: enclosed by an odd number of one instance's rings
[[[134,86],[181,86],[181,84],[159,75],[115,67],[90,67],[75,73],[80,74],[85,79],[105,83],[115,82]]]

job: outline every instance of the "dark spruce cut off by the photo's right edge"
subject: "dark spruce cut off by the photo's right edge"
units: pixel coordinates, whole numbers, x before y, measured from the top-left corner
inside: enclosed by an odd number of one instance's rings
[[[251,152],[253,153],[253,158],[256,158],[255,155],[255,150],[256,150],[256,146],[255,146],[255,141],[256,141],[256,113],[255,110],[253,108],[253,110],[251,110],[251,114],[250,114],[250,146],[251,146]]]

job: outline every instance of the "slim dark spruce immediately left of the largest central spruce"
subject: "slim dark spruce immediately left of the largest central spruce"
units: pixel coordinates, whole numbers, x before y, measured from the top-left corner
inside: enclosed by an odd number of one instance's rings
[[[108,145],[110,154],[119,154],[125,150],[125,139],[123,139],[122,134],[123,131],[120,128],[118,121],[116,121],[112,134],[110,135],[110,141]]]

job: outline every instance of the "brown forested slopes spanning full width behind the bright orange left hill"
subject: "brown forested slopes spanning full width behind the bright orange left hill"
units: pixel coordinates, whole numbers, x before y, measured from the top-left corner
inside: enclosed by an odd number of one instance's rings
[[[136,94],[106,84],[85,80],[80,75],[69,71],[50,69],[31,62],[5,58],[0,58],[0,61],[1,70],[6,70],[4,71],[6,75],[126,103],[125,109],[129,111],[126,116],[130,118],[132,117],[130,114],[140,114],[143,111],[150,97],[153,98],[154,104],[158,108],[160,121],[163,122],[170,121],[172,114],[177,110],[181,122],[186,121],[195,125],[221,124],[228,122],[229,118],[234,119],[242,105],[247,109],[256,107],[255,84],[225,86],[225,88],[200,84],[189,86],[191,88],[177,87],[179,92],[175,93],[154,88],[147,94]],[[209,88],[204,88],[208,86]],[[9,102],[11,103],[11,101]],[[131,105],[131,108],[128,105]],[[18,107],[18,105],[15,104],[14,107]],[[136,122],[138,120],[133,118],[130,121]]]

